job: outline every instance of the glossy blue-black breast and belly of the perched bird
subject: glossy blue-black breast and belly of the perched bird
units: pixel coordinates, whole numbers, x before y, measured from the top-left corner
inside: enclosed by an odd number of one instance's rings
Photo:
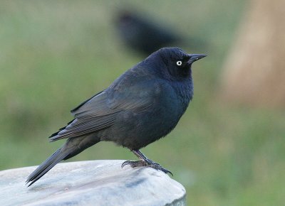
[[[175,128],[180,117],[184,114],[190,99],[191,85],[170,85],[167,83],[156,83],[152,85],[152,104],[150,107],[133,112],[122,111],[112,126],[112,140],[119,145],[139,149],[149,143],[166,136]],[[145,97],[143,92],[138,95]]]

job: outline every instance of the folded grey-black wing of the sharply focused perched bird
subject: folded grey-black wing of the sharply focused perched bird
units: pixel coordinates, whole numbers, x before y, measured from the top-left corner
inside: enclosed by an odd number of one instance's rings
[[[125,80],[116,83],[71,110],[75,119],[51,135],[50,140],[56,141],[100,131],[112,126],[119,112],[129,110],[138,113],[152,105],[150,85],[128,85]]]

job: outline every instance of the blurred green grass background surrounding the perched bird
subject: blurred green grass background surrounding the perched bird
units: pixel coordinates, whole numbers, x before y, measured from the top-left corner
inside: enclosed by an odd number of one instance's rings
[[[142,60],[112,23],[129,4],[208,43],[185,48],[209,55],[194,65],[190,108],[142,152],[185,185],[189,205],[283,205],[284,110],[231,107],[217,93],[246,1],[1,1],[0,169],[45,160],[63,143],[47,137],[72,119],[68,111]],[[98,143],[71,161],[95,159],[135,156]]]

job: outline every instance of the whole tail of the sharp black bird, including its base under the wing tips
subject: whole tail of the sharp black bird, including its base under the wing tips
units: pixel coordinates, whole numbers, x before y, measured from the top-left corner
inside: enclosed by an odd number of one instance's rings
[[[41,165],[28,176],[26,184],[28,184],[28,187],[33,185],[33,183],[51,170],[53,166],[56,166],[57,163],[76,156],[89,146],[98,143],[98,141],[100,140],[94,138],[94,136],[81,136],[75,139],[68,139],[68,141],[61,148],[47,158],[46,161],[41,163]]]

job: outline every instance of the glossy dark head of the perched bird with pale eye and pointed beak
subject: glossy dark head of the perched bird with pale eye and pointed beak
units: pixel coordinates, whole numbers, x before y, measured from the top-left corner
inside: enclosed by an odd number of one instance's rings
[[[195,61],[206,57],[204,54],[187,54],[180,48],[161,48],[150,55],[150,59],[163,62],[165,67],[159,66],[160,70],[170,78],[187,78],[191,75],[191,66]]]

